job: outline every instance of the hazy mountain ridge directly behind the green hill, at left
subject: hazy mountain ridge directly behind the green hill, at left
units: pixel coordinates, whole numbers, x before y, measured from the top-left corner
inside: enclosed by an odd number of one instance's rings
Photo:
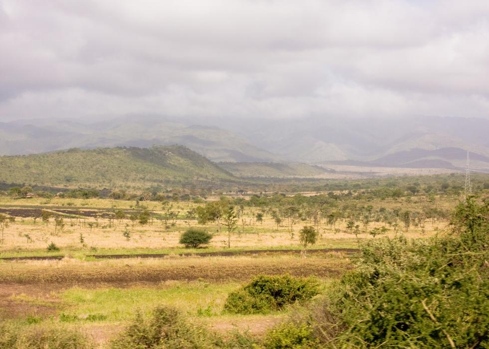
[[[69,148],[179,144],[213,161],[280,159],[218,127],[186,125],[155,117],[127,117],[91,124],[69,120],[0,123],[0,136],[0,155],[33,154]]]

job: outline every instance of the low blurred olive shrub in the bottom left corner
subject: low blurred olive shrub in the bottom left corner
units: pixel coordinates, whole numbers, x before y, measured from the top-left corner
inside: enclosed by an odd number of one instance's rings
[[[88,338],[79,331],[52,326],[0,324],[0,349],[91,349]]]

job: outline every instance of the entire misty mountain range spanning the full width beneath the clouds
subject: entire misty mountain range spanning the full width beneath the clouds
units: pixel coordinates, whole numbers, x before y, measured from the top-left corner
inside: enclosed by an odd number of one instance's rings
[[[33,119],[0,123],[0,154],[179,144],[215,162],[460,168],[470,151],[482,169],[489,167],[488,134],[489,120],[475,118]]]

